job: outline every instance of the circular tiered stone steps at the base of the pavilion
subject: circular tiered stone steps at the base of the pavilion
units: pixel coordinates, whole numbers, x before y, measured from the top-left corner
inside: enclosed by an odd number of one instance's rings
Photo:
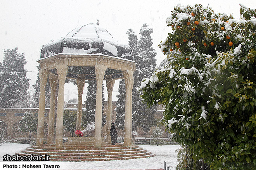
[[[138,145],[105,145],[101,148],[93,146],[71,146],[55,147],[54,145],[31,146],[19,153],[23,155],[50,155],[50,161],[108,161],[108,160],[127,160],[136,158],[147,158],[155,156],[150,151]]]

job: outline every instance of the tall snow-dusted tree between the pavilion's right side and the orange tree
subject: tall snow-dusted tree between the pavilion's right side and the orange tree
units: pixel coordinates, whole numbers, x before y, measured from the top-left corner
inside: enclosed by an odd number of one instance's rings
[[[133,95],[132,95],[132,129],[136,130],[137,127],[141,127],[145,132],[149,132],[150,127],[155,124],[154,113],[156,107],[147,107],[142,103],[140,98],[141,92],[138,92],[137,87],[140,86],[142,78],[150,76],[156,67],[156,52],[152,48],[152,37],[151,33],[153,30],[143,24],[140,29],[140,40],[132,29],[127,31],[129,46],[133,50],[134,61],[136,63],[136,71],[133,74]],[[119,82],[119,95],[117,101],[117,119],[116,125],[118,128],[123,128],[124,116],[125,116],[125,83],[124,81]]]

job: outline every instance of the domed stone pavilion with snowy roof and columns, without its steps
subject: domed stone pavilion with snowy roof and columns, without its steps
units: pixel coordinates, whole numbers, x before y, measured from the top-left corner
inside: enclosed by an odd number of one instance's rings
[[[85,80],[97,80],[94,147],[101,147],[103,142],[101,133],[102,82],[106,80],[108,94],[106,142],[111,143],[109,133],[111,128],[113,85],[115,80],[125,78],[124,146],[131,146],[131,93],[133,88],[133,72],[136,70],[136,66],[133,61],[132,49],[128,45],[118,42],[106,29],[96,24],[86,24],[69,32],[66,37],[43,46],[38,63],[40,63],[41,69],[39,70],[40,99],[36,137],[37,146],[43,146],[45,86],[48,77],[50,80],[51,97],[47,144],[54,144],[55,93],[57,83],[59,83],[55,147],[63,145],[64,84],[66,78],[76,79],[78,87],[77,130],[81,130],[82,93]]]

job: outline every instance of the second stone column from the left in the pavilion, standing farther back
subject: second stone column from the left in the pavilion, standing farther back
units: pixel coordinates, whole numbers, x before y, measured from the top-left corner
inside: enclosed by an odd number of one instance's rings
[[[48,120],[48,136],[47,144],[53,144],[54,142],[54,110],[55,110],[55,94],[58,84],[58,76],[54,74],[49,75],[49,82],[51,85],[51,98],[50,98],[50,110],[49,110],[49,120]]]

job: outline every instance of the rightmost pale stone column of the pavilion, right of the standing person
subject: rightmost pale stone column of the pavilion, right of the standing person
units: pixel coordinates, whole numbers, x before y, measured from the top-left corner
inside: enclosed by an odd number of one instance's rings
[[[133,88],[133,71],[124,71],[125,77],[125,136],[124,146],[131,146],[131,93]]]

